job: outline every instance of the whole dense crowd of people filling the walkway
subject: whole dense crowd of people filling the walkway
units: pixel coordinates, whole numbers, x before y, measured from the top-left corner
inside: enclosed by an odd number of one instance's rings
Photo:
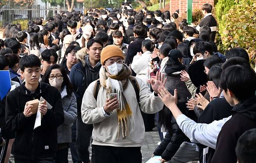
[[[155,120],[161,163],[256,163],[256,74],[244,49],[217,50],[211,11],[198,26],[130,3],[5,24],[0,163],[68,163],[69,148],[74,163],[141,163]]]

